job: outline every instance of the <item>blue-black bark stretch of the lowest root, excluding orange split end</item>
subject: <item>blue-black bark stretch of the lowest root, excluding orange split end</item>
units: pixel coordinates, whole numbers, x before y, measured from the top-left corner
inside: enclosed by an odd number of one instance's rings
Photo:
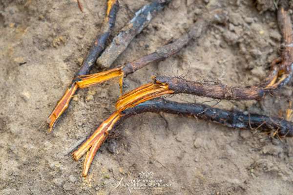
[[[244,114],[236,111],[232,112],[219,108],[212,108],[204,104],[178,103],[167,101],[163,98],[149,100],[133,108],[126,109],[122,112],[122,114],[124,114],[122,119],[145,112],[165,112],[192,116],[232,128],[261,130],[264,132],[273,131],[279,137],[293,137],[293,123],[282,118],[267,117],[258,114]]]

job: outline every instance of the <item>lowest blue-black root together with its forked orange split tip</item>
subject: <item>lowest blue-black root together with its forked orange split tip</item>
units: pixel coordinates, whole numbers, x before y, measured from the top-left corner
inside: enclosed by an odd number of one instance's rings
[[[147,86],[141,88],[145,90]],[[136,93],[131,93],[131,95],[133,94]],[[111,117],[106,119],[97,131],[88,140],[86,140],[77,151],[73,153],[74,159],[77,160],[90,148],[90,151],[84,161],[83,176],[87,175],[90,164],[92,163],[92,160],[102,142],[109,134],[109,131],[117,128],[118,124],[120,124],[127,117],[145,112],[180,114],[183,116],[191,116],[220,123],[231,128],[261,130],[268,133],[274,131],[274,136],[293,137],[293,123],[284,120],[283,118],[267,117],[258,114],[245,114],[237,111],[213,108],[204,104],[167,101],[163,98],[148,100],[139,104],[138,101],[134,102],[135,103],[131,106],[126,106],[123,109],[116,111],[111,115]],[[106,128],[103,128],[103,126],[106,126]]]

